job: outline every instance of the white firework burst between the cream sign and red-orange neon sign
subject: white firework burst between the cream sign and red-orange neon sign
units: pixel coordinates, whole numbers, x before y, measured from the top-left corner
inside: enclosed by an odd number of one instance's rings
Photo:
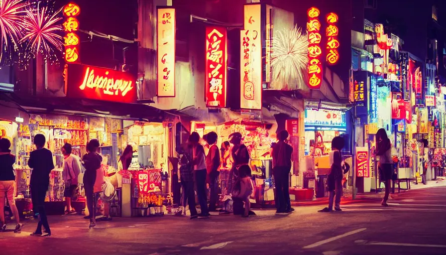
[[[297,27],[282,29],[273,37],[271,67],[273,78],[288,85],[305,81],[308,63],[308,37]]]

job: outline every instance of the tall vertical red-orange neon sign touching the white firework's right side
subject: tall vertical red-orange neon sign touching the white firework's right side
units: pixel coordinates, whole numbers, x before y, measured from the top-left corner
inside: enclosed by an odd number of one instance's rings
[[[319,89],[322,84],[322,48],[321,48],[321,22],[320,10],[316,7],[308,9],[308,86],[310,89]]]

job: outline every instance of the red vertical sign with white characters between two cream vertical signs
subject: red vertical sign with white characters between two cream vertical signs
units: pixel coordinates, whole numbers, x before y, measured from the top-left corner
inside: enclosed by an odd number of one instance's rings
[[[226,28],[206,27],[206,106],[226,106]]]

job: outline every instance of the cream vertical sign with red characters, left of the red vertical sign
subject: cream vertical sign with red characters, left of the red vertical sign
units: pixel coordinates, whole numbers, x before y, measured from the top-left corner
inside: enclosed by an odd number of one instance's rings
[[[175,9],[157,11],[157,96],[175,97]]]

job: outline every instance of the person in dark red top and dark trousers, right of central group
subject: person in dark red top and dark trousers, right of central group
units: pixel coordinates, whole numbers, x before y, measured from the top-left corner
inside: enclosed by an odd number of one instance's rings
[[[273,158],[273,176],[274,185],[276,187],[276,213],[291,213],[294,209],[291,207],[289,177],[291,171],[291,156],[293,155],[293,147],[286,143],[288,131],[279,132],[278,142],[272,147]]]

